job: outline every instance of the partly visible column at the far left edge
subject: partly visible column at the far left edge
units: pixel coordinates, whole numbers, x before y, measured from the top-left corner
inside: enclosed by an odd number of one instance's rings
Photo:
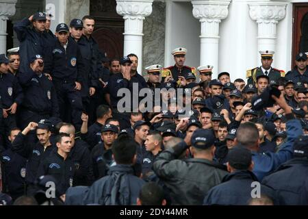
[[[6,54],[6,27],[10,16],[16,12],[17,0],[0,0],[0,54]]]

